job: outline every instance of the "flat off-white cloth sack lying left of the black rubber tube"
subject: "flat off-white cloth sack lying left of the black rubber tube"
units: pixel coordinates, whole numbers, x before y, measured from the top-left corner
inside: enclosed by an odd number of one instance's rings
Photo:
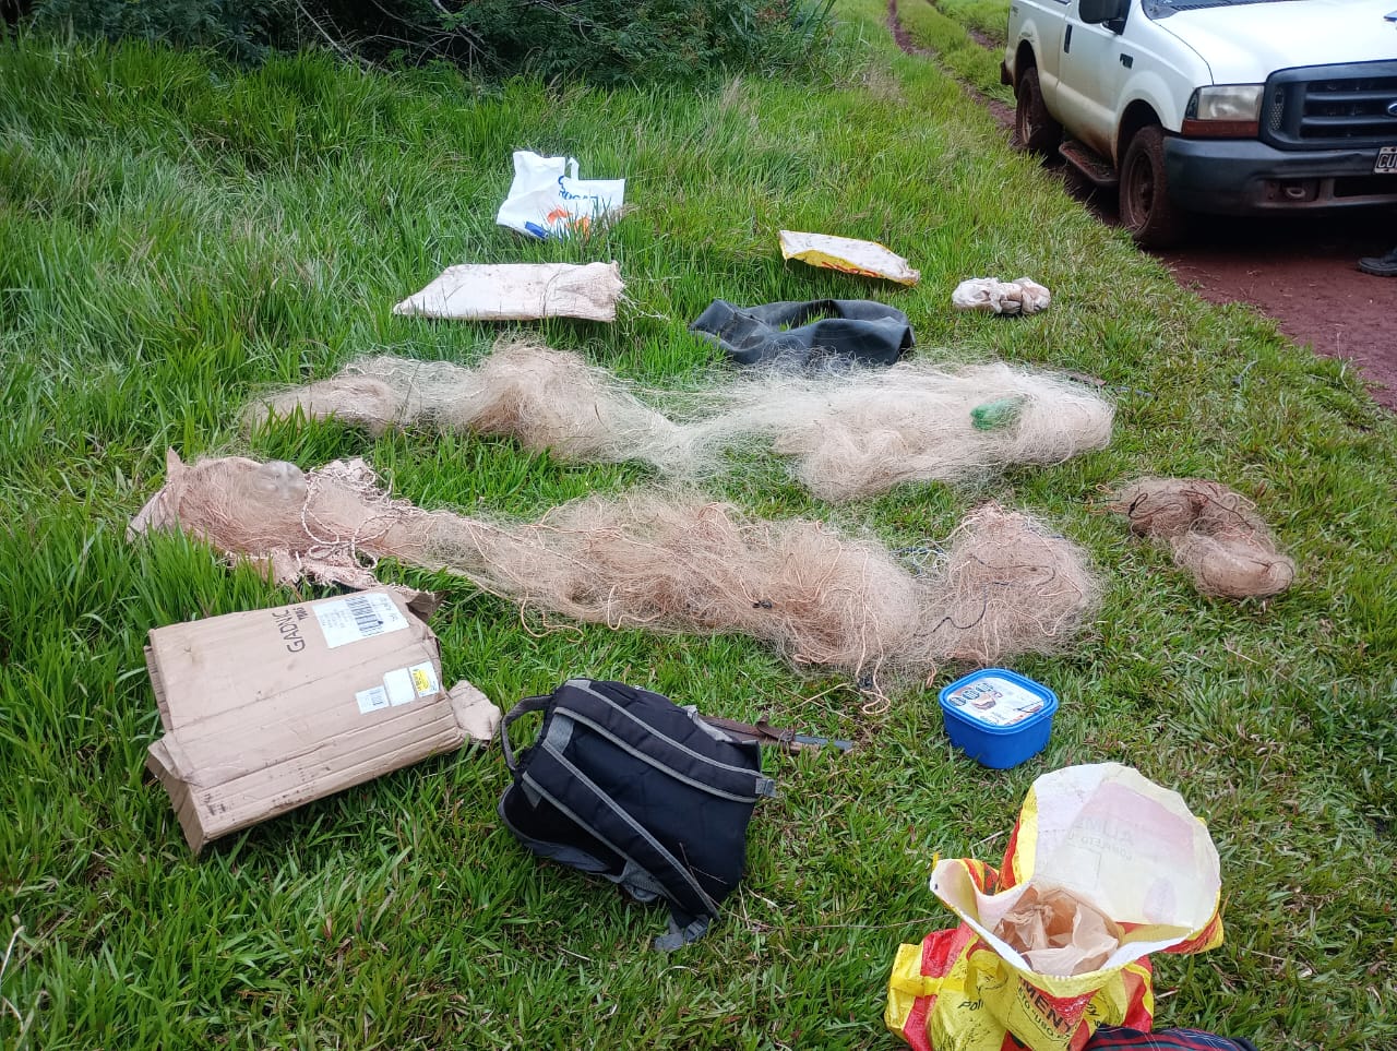
[[[622,289],[617,263],[468,263],[447,267],[393,313],[467,321],[615,321]]]

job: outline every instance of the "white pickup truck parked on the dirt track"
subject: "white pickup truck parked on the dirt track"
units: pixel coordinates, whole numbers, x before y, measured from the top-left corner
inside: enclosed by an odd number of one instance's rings
[[[1387,205],[1397,0],[1011,0],[1016,141],[1119,186],[1146,246],[1192,212]]]

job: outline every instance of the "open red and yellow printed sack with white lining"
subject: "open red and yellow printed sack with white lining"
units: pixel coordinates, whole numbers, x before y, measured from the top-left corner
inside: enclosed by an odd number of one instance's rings
[[[1065,890],[1119,925],[1085,974],[1045,974],[995,935],[1030,887]],[[1153,952],[1222,943],[1218,854],[1178,792],[1119,763],[1044,774],[1000,869],[947,860],[932,892],[961,918],[898,949],[887,1027],[916,1051],[1080,1051],[1101,1024],[1148,1030]]]

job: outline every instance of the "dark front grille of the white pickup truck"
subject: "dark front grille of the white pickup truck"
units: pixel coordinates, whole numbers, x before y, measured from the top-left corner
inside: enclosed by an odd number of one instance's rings
[[[1261,138],[1281,150],[1397,143],[1397,61],[1308,66],[1266,81]]]

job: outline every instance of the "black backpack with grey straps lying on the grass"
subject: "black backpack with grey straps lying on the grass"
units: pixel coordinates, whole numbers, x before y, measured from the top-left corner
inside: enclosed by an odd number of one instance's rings
[[[528,711],[543,725],[515,760],[510,725]],[[775,794],[756,744],[659,693],[592,679],[521,700],[500,742],[514,783],[499,812],[525,847],[640,901],[665,899],[657,949],[704,935],[742,876],[757,798]]]

